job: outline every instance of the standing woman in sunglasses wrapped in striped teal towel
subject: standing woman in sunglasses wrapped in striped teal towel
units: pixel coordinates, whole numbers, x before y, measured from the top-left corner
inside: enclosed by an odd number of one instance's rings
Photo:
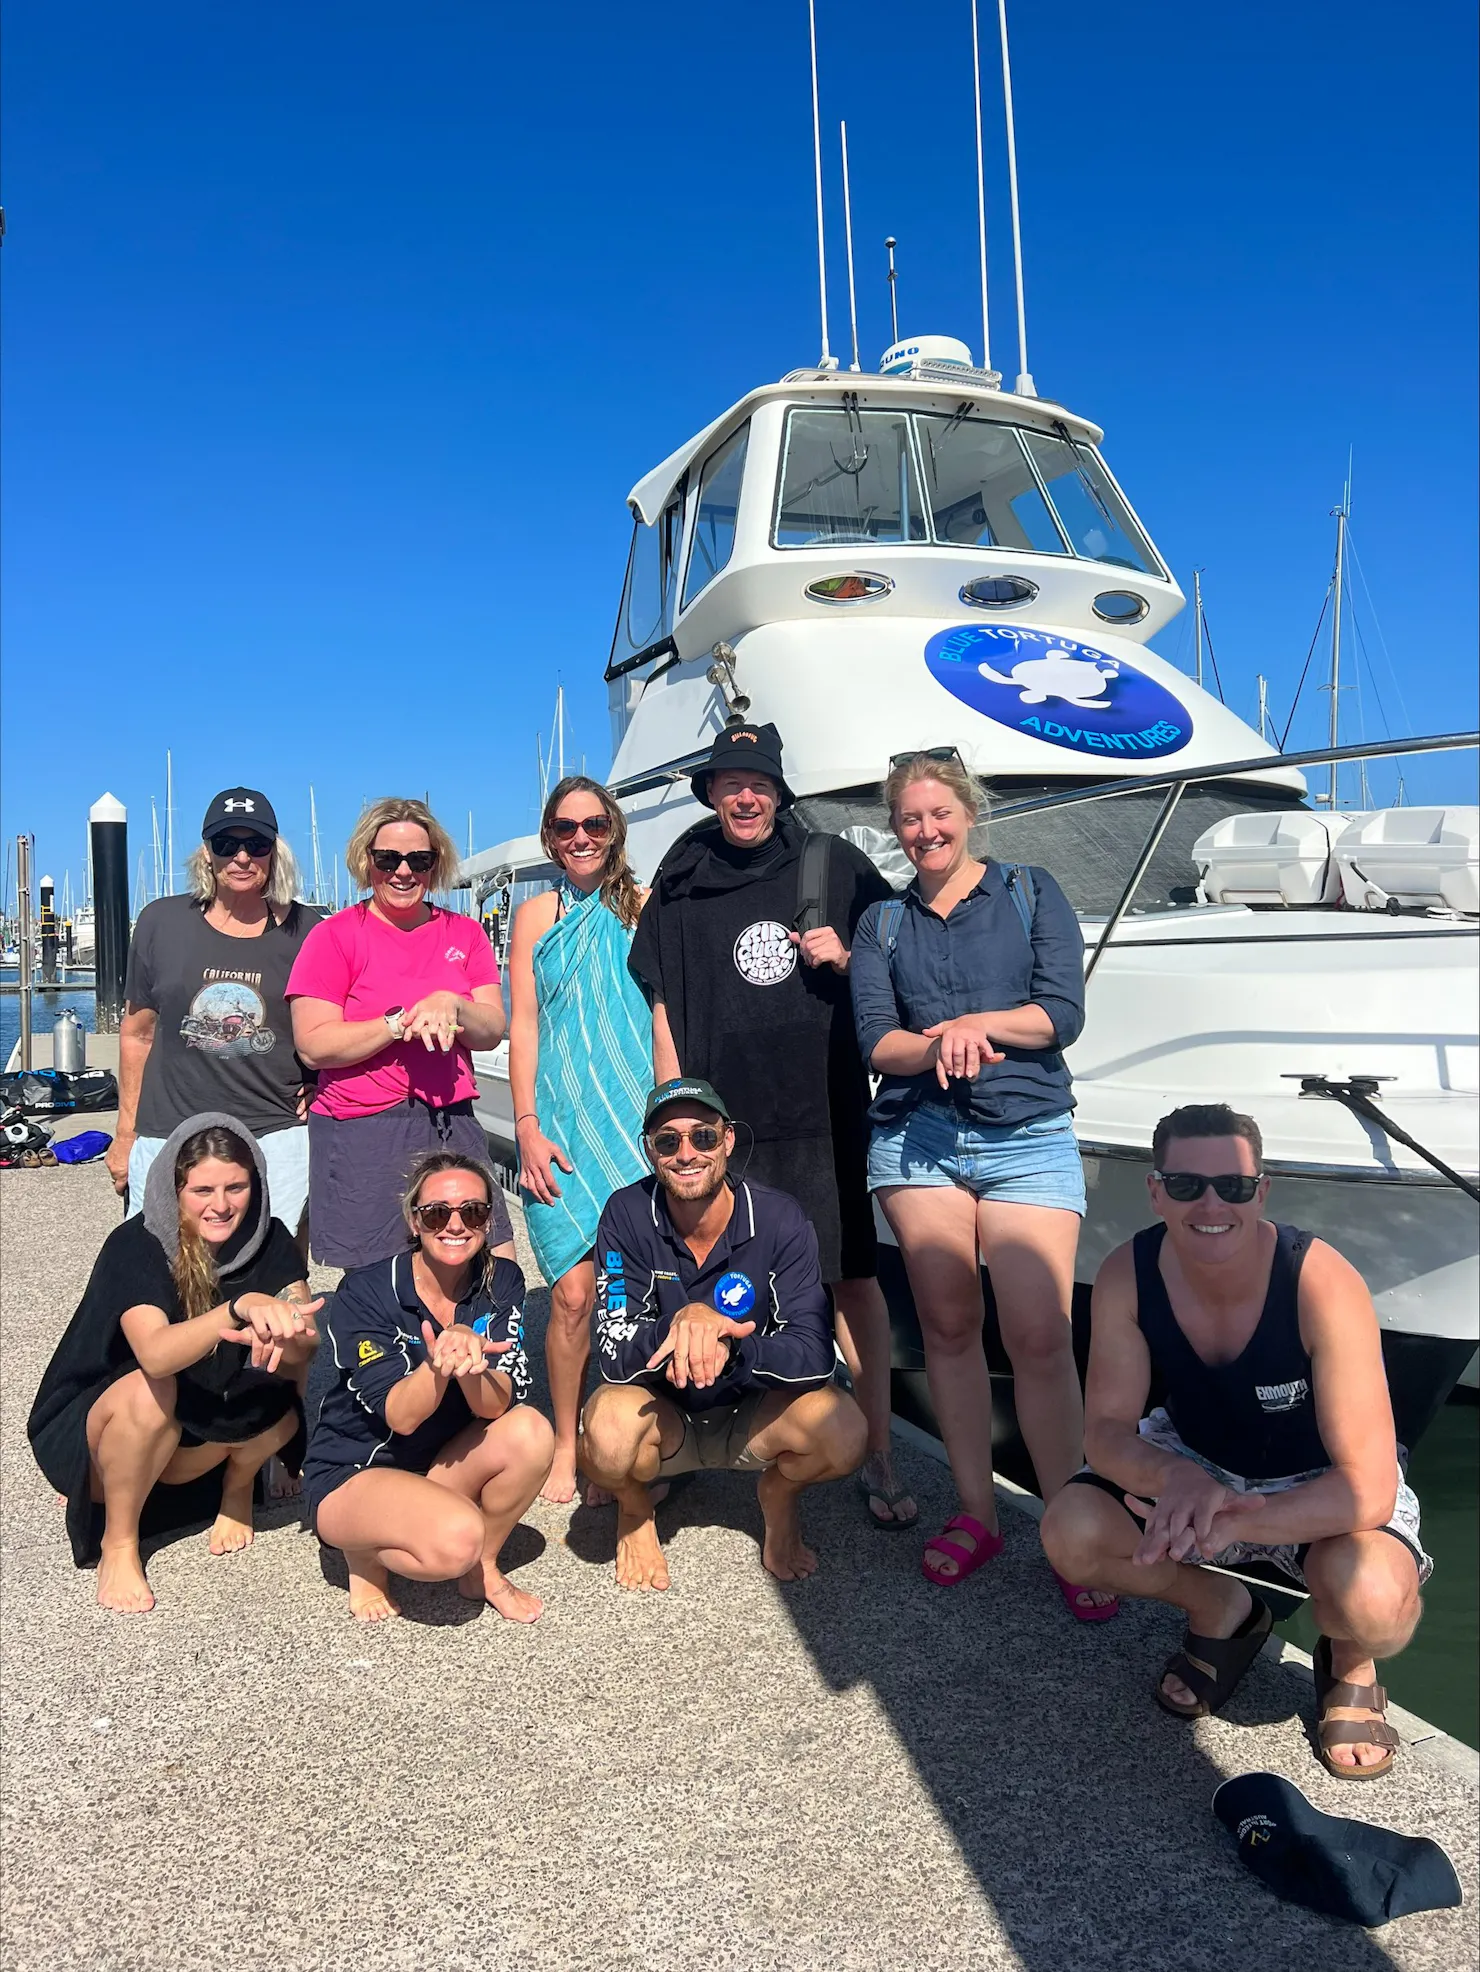
[[[575,1499],[575,1426],[591,1353],[591,1244],[613,1191],[646,1173],[642,1102],[652,1012],[627,970],[642,891],[627,868],[627,816],[585,775],[550,795],[540,840],[560,881],[514,917],[508,949],[518,1187],[550,1282],[544,1359],[556,1457],[542,1499]]]

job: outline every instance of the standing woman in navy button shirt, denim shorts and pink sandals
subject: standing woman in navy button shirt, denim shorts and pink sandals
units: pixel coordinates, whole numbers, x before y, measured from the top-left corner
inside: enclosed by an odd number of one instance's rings
[[[905,1256],[964,1509],[922,1570],[954,1587],[1001,1552],[981,1264],[1043,1497],[1084,1459],[1068,1319],[1084,1173],[1062,1055],[1084,1025],[1084,939],[1046,870],[972,854],[981,795],[954,749],[895,765],[885,799],[914,881],[853,935],[853,1018],[881,1077],[869,1189]],[[1082,1621],[1115,1613],[1060,1585]]]

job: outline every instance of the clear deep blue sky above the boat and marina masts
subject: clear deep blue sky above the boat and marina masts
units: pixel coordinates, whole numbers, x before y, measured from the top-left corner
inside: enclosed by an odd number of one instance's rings
[[[975,343],[966,4],[818,16],[865,365],[885,233],[901,327]],[[325,852],[388,791],[528,828],[558,678],[607,765],[627,489],[816,359],[804,0],[12,0],[4,55],[6,834],[77,881],[108,787],[138,856],[166,745],[181,844],[233,781],[300,852],[309,783]],[[1289,708],[1350,444],[1389,724],[1474,726],[1472,8],[1019,0],[1013,61],[1031,367],[1206,568],[1230,700]]]

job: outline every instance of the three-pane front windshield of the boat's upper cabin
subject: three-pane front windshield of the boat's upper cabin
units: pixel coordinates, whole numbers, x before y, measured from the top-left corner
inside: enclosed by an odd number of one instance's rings
[[[960,412],[788,412],[771,538],[1015,548],[1163,574],[1092,446]]]

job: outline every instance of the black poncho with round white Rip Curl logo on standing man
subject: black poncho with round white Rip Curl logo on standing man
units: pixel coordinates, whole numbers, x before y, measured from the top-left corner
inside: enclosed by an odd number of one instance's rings
[[[692,828],[658,870],[629,964],[668,1010],[682,1073],[711,1083],[735,1116],[737,1169],[798,1199],[824,1280],[861,1280],[877,1270],[869,1083],[847,976],[804,964],[788,939],[804,836],[786,812],[753,850],[725,842],[717,820]],[[869,858],[834,836],[826,919],[845,949],[867,907],[891,895]]]

